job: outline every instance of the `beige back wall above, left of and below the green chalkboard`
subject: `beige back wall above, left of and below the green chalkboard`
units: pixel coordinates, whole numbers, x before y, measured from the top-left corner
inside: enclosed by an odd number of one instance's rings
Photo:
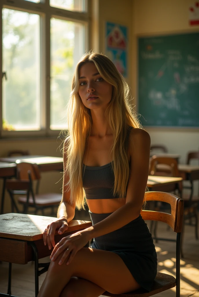
[[[199,26],[189,25],[189,7],[194,0],[133,0],[133,90],[137,102],[137,37],[150,34],[172,34],[199,31]],[[135,103],[134,102],[134,103]],[[199,129],[149,128],[152,144],[163,144],[170,153],[181,155],[184,163],[188,151],[199,149]]]

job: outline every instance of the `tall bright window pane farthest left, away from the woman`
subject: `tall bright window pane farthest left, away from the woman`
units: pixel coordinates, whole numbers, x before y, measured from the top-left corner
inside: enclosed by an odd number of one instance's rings
[[[40,129],[39,16],[3,9],[4,129]]]

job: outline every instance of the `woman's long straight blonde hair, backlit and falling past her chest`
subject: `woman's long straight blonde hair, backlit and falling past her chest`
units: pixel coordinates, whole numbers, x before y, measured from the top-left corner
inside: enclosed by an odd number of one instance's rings
[[[78,209],[84,208],[85,192],[82,184],[83,157],[86,144],[92,128],[92,116],[79,96],[79,70],[88,62],[93,62],[102,78],[113,86],[112,99],[105,112],[110,128],[113,132],[113,145],[110,155],[113,160],[115,183],[113,195],[126,197],[126,186],[129,180],[129,163],[127,157],[128,127],[141,128],[139,120],[129,102],[129,86],[118,72],[113,62],[106,56],[89,52],[78,62],[72,79],[72,91],[68,102],[68,145],[66,170],[69,181],[66,185],[70,189],[70,202]],[[67,136],[68,136],[67,135]]]

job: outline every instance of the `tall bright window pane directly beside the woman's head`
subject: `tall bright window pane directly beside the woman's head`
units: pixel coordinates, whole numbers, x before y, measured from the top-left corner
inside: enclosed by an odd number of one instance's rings
[[[71,78],[85,51],[82,24],[51,19],[51,129],[66,128]]]

